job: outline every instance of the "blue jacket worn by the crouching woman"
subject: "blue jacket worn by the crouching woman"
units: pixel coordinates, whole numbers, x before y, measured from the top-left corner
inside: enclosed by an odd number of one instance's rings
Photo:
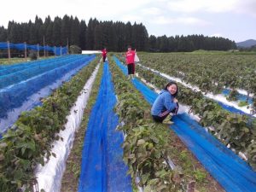
[[[173,102],[173,98],[174,97],[168,90],[161,90],[151,108],[151,114],[159,116],[160,113],[166,110],[171,112],[173,109],[177,108],[177,103]]]

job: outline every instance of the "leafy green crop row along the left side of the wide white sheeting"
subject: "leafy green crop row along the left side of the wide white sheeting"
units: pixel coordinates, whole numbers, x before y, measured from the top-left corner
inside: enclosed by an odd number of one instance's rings
[[[51,155],[52,142],[61,139],[70,108],[96,67],[96,60],[84,67],[69,82],[44,99],[42,107],[20,115],[0,141],[0,191],[32,191],[37,182],[33,172]]]

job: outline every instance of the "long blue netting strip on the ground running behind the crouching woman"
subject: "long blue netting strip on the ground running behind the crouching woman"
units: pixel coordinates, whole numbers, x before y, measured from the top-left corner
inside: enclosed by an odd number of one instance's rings
[[[121,64],[116,58],[115,61],[120,67]],[[137,79],[131,82],[152,105],[157,94]],[[245,161],[205,131],[187,113],[178,114],[172,120],[174,122],[174,125],[170,126],[172,130],[226,191],[256,191],[256,172],[253,172]]]

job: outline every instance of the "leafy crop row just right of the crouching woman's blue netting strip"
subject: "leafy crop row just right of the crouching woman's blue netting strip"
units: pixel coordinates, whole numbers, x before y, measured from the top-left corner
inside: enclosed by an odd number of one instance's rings
[[[167,83],[166,79],[143,67],[137,67],[137,73],[158,89],[163,88],[163,85]],[[189,112],[199,115],[201,125],[210,127],[212,135],[222,143],[226,146],[230,144],[230,148],[235,149],[237,154],[240,151],[247,154],[248,163],[255,169],[256,119],[227,112],[217,102],[207,99],[201,92],[194,92],[184,87],[183,84],[178,84],[178,88],[179,102],[189,105]]]

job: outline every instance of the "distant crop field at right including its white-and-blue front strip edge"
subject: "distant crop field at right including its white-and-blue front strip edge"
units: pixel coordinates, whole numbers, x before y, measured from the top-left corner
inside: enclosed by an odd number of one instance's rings
[[[255,55],[141,54],[141,64],[245,113],[256,113]],[[220,98],[223,97],[223,98]]]

